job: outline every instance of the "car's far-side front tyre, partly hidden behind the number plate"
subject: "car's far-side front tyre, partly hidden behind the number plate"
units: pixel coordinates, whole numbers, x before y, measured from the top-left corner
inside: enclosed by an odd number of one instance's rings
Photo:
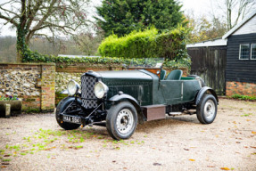
[[[55,117],[56,117],[57,123],[63,129],[72,130],[72,129],[77,129],[79,126],[81,126],[80,124],[63,122],[63,119],[60,115],[60,113],[62,113],[64,110],[66,110],[66,108],[70,105],[70,103],[74,102],[74,101],[75,101],[75,97],[66,97],[66,98],[62,99],[62,101],[59,102],[59,104],[57,106]],[[78,102],[81,104],[81,102],[79,100],[78,100]]]

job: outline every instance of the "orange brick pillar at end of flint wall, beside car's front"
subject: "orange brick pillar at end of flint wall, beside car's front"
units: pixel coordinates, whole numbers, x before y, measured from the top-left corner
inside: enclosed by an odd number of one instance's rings
[[[41,111],[54,111],[55,103],[55,64],[42,64]]]

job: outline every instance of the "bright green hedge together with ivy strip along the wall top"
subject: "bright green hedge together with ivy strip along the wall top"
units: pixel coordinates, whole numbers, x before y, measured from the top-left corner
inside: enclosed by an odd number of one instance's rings
[[[22,62],[54,62],[57,66],[70,64],[126,64],[133,62],[142,66],[145,58],[165,58],[164,67],[190,68],[190,58],[186,53],[186,29],[178,27],[167,33],[158,34],[156,28],[134,31],[126,37],[112,35],[105,38],[99,46],[103,57],[69,58],[45,55],[31,51],[23,53]]]

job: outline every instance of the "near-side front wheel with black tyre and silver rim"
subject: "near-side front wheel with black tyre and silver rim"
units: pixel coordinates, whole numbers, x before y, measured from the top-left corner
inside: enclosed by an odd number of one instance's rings
[[[130,102],[120,102],[108,110],[106,126],[113,139],[128,139],[136,130],[137,113]]]

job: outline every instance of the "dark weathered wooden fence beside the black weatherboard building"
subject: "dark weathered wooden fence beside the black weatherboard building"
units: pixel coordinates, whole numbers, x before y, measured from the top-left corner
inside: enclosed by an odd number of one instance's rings
[[[227,46],[189,47],[191,74],[202,77],[217,94],[226,93]]]

